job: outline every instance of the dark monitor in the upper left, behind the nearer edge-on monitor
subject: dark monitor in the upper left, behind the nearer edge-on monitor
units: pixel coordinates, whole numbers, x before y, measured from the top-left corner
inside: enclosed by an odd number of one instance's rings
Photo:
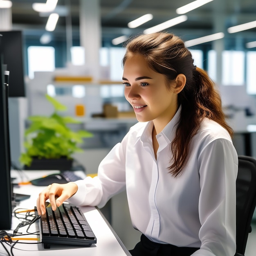
[[[0,54],[10,71],[9,97],[25,97],[22,32],[0,31],[0,34]]]

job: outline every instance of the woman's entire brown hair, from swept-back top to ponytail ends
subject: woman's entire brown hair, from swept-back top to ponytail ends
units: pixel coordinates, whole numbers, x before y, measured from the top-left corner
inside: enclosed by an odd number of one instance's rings
[[[123,65],[128,56],[133,54],[144,56],[149,67],[164,74],[168,81],[174,80],[177,74],[186,76],[186,85],[178,94],[182,110],[176,136],[171,143],[173,158],[169,170],[177,177],[182,173],[188,159],[191,139],[198,132],[204,117],[218,122],[230,135],[233,131],[225,121],[215,84],[207,72],[193,65],[191,52],[181,38],[165,32],[139,35],[126,43]]]

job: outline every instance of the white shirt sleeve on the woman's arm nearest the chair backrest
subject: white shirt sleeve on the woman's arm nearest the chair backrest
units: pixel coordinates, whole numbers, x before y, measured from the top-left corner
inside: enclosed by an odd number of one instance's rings
[[[236,252],[238,155],[231,141],[216,139],[203,148],[198,164],[202,244],[192,256],[233,256]]]

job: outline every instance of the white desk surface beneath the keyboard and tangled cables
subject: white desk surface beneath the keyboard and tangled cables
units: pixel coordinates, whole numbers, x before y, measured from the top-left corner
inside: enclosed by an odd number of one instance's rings
[[[49,171],[26,171],[25,174],[29,175],[31,178],[40,177],[44,173],[49,173]],[[12,172],[12,177],[19,176],[16,171]],[[42,186],[33,185],[22,185],[19,188],[14,188],[14,193],[29,194],[31,197],[27,200],[20,202],[18,207],[24,207],[25,209],[33,209],[36,205],[36,199],[38,193],[42,191]],[[13,254],[16,256],[37,256],[37,255],[54,255],[61,253],[61,256],[125,256],[130,255],[128,250],[124,247],[121,240],[118,238],[115,231],[110,227],[109,223],[100,213],[100,211],[95,207],[79,207],[84,213],[85,218],[88,220],[95,236],[97,237],[97,243],[90,247],[75,247],[75,246],[65,246],[65,245],[51,245],[50,249],[44,249],[42,243],[34,244],[35,241],[30,242],[30,244],[16,244],[13,248]],[[19,220],[15,217],[12,218],[12,228],[15,228]],[[27,227],[25,227],[25,230]],[[24,229],[21,229],[24,231]],[[30,231],[38,230],[38,224],[31,227]],[[29,242],[29,241],[28,241]],[[27,243],[27,241],[26,241]],[[33,243],[33,244],[32,244]],[[8,248],[8,246],[7,246]],[[0,247],[0,253],[4,252],[4,249]],[[6,253],[6,252],[5,252]],[[1,254],[2,255],[2,254]]]

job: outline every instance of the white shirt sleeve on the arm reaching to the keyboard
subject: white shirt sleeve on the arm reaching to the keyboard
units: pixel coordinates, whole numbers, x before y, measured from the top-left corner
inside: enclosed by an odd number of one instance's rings
[[[126,137],[101,161],[96,177],[86,177],[75,182],[78,190],[68,202],[101,208],[113,195],[123,191],[126,187],[125,147]]]

